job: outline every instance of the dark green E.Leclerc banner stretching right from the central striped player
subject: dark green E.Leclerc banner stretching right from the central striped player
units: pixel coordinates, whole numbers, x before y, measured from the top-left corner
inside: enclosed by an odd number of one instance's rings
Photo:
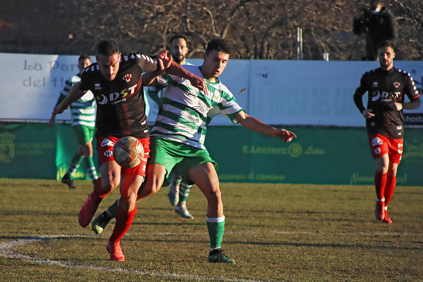
[[[283,142],[242,126],[207,129],[206,147],[222,182],[374,184],[376,165],[364,128],[287,127]],[[423,130],[405,129],[398,185],[423,185]]]

